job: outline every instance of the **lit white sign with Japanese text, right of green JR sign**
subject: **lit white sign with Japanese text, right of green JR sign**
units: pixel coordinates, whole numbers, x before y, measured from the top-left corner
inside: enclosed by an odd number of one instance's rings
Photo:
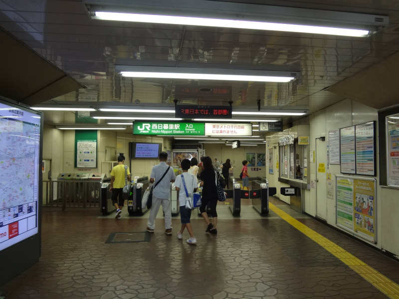
[[[205,123],[207,136],[252,136],[252,124]]]

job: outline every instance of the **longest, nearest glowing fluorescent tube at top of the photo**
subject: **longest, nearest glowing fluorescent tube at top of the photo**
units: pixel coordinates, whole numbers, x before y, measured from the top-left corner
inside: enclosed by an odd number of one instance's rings
[[[361,30],[361,29],[348,29],[348,28],[326,27],[326,26],[309,26],[309,25],[300,25],[300,24],[284,24],[284,23],[234,20],[234,19],[219,19],[219,18],[208,18],[208,17],[122,13],[122,12],[109,12],[109,11],[95,11],[94,14],[95,18],[97,19],[128,21],[128,22],[288,31],[288,32],[355,36],[355,37],[367,36],[369,34],[369,30]]]

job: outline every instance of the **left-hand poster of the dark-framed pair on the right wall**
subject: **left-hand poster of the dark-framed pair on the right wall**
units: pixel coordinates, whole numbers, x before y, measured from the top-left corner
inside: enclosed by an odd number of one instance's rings
[[[341,173],[356,173],[355,126],[340,129]]]

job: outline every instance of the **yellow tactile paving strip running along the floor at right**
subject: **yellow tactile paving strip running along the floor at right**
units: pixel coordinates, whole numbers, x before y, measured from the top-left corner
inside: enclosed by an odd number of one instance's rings
[[[389,298],[399,299],[398,284],[396,284],[386,276],[382,275],[377,270],[368,266],[366,263],[353,256],[342,247],[331,242],[329,239],[323,237],[319,233],[315,232],[303,223],[288,215],[286,212],[277,208],[274,204],[269,203],[269,208],[278,216],[280,216],[283,220],[287,221],[289,224],[299,230],[301,233],[308,236],[310,239],[322,246],[332,255],[336,256],[343,263],[348,265],[353,271],[358,273],[360,276],[362,276],[365,280],[367,280]]]

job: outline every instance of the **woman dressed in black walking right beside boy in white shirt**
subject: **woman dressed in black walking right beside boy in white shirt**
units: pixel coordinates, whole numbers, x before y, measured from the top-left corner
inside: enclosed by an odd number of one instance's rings
[[[216,234],[216,224],[217,224],[217,213],[216,213],[216,204],[217,204],[217,190],[215,183],[215,175],[216,172],[213,169],[212,159],[209,156],[204,156],[202,158],[203,170],[200,173],[200,186],[202,187],[202,198],[201,198],[201,206],[200,213],[202,215],[203,220],[207,225],[205,232],[209,232],[211,234]],[[210,206],[210,213],[212,215],[212,223],[209,221],[208,215],[206,213],[206,206]]]

